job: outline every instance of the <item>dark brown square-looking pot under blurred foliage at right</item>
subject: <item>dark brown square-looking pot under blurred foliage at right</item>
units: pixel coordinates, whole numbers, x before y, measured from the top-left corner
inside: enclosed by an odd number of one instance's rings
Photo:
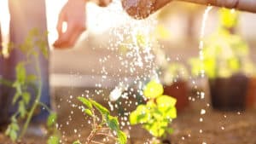
[[[212,107],[222,111],[241,111],[246,107],[248,78],[242,74],[210,79]]]

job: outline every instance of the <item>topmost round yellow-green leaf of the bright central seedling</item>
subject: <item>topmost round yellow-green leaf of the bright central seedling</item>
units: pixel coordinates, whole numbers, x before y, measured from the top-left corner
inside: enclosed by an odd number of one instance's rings
[[[162,84],[159,84],[154,80],[149,82],[143,90],[143,94],[148,99],[154,99],[154,98],[162,95],[163,92],[164,92],[164,88],[163,88]]]

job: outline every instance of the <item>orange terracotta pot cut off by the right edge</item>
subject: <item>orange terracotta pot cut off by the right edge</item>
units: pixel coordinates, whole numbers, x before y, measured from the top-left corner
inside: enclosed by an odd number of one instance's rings
[[[256,103],[256,78],[249,79],[246,99],[246,107],[254,108]]]

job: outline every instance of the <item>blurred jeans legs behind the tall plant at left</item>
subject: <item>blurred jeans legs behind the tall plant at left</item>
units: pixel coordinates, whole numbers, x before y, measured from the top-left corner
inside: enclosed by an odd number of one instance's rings
[[[9,0],[9,10],[11,18],[10,41],[12,43],[15,43],[15,45],[23,43],[28,32],[30,32],[33,28],[37,28],[41,33],[47,32],[44,0]],[[45,37],[45,41],[47,42],[47,37]],[[43,80],[41,101],[44,102],[45,105],[50,106],[49,60],[46,60],[40,51],[38,51],[38,53],[40,54],[39,61],[41,78]],[[4,78],[14,80],[15,66],[20,60],[24,60],[24,55],[20,52],[19,49],[12,50],[9,58],[2,60],[2,63],[0,63],[0,74],[2,73]],[[35,65],[26,66],[26,72],[30,74],[36,74]],[[33,96],[32,100],[34,100],[36,95],[35,91],[33,89],[30,89],[30,92]],[[11,115],[13,112],[16,111],[17,107],[13,107],[10,105],[14,94],[15,89],[0,87],[0,105],[3,105],[3,103],[8,104],[4,106],[5,112],[2,112],[2,114],[7,113],[7,115]],[[6,107],[8,107],[7,110]],[[48,112],[46,112],[46,110],[42,110],[38,115],[33,118],[33,121],[44,121],[47,116]]]

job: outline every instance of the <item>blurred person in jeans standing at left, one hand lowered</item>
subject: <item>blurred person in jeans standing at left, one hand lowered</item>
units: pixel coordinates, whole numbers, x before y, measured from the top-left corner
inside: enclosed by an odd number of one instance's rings
[[[96,0],[94,0],[95,2]],[[59,38],[55,42],[56,47],[73,46],[79,35],[85,30],[85,7],[86,0],[68,0],[61,10],[59,24],[67,21],[67,32],[60,31],[61,26],[58,25]],[[101,6],[106,6],[110,0],[97,0]],[[33,28],[37,28],[39,32],[47,32],[46,14],[44,0],[9,0],[10,12],[10,41],[19,45],[24,43],[26,35]],[[1,16],[1,15],[0,15]],[[0,35],[1,36],[1,35]],[[47,37],[45,37],[47,42]],[[1,38],[0,38],[1,43]],[[0,47],[0,52],[2,48]],[[49,106],[49,60],[46,60],[38,51],[39,62],[41,69],[41,77],[43,80],[41,101]],[[0,78],[15,80],[15,66],[19,61],[24,60],[25,55],[22,55],[19,49],[10,51],[9,57],[3,59],[0,53]],[[26,67],[26,72],[36,74],[35,66]],[[0,83],[0,127],[3,124],[9,123],[9,117],[15,112],[15,107],[11,105],[15,89],[4,86]],[[32,118],[34,124],[45,122],[48,112],[41,109],[38,114]],[[36,126],[38,128],[38,125]],[[1,130],[1,129],[0,129]],[[36,131],[38,132],[38,131]]]

